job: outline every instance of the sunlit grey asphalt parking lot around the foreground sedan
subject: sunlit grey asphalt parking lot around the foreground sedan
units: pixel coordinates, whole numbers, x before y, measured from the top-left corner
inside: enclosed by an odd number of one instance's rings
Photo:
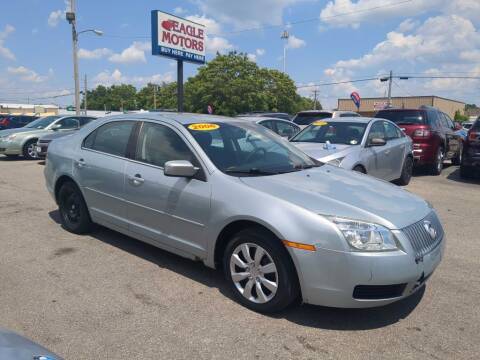
[[[99,228],[59,225],[38,161],[0,158],[0,326],[66,359],[477,359],[480,182],[418,173],[446,255],[424,291],[377,309],[234,300],[220,272]]]

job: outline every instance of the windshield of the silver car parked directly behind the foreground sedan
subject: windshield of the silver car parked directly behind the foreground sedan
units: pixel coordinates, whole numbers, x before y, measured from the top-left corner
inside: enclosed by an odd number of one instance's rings
[[[366,123],[320,120],[313,122],[291,141],[358,145],[366,128]]]

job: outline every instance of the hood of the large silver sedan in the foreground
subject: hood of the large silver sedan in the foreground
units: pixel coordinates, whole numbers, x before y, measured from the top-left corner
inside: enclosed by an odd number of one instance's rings
[[[317,214],[374,222],[390,229],[402,229],[431,211],[425,200],[396,185],[328,164],[240,180]]]

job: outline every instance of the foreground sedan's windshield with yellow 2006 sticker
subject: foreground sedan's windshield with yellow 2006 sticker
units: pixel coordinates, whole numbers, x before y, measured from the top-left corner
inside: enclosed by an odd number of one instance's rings
[[[215,166],[232,176],[275,175],[322,164],[257,124],[219,122],[185,127]]]

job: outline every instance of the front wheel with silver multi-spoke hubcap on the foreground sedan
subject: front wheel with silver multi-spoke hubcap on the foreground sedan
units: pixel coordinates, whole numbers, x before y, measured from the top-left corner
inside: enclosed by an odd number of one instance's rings
[[[256,258],[259,251],[262,255]],[[263,229],[249,228],[234,235],[225,249],[223,268],[236,300],[251,310],[278,312],[299,297],[297,273],[288,251]]]

